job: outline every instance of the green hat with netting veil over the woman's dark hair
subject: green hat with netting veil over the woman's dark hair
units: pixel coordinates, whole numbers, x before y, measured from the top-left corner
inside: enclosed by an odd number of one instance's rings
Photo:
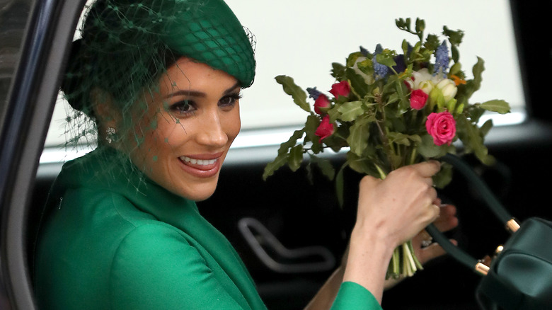
[[[78,32],[62,81],[75,109],[66,119],[67,147],[108,143],[96,115],[104,103],[120,115],[117,134],[108,132],[107,139],[134,134],[139,147],[144,131],[156,124],[137,128],[135,121],[180,57],[225,71],[242,88],[253,84],[254,37],[222,0],[97,0]]]

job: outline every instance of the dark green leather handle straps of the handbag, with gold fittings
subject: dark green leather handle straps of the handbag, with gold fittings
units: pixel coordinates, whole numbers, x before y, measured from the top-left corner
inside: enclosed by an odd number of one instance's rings
[[[498,201],[495,197],[493,192],[488,188],[487,184],[479,178],[475,171],[473,171],[473,169],[465,161],[453,154],[446,154],[445,156],[442,156],[440,160],[450,163],[468,180],[468,182],[475,185],[475,188],[479,190],[483,200],[485,200],[490,210],[493,211],[500,222],[505,225],[507,230],[514,233],[517,229],[519,229],[517,221],[510,215],[509,212],[507,212],[500,201]],[[444,248],[444,251],[449,253],[450,256],[466,265],[468,268],[475,270],[482,275],[487,275],[489,266],[483,264],[481,260],[473,258],[464,250],[461,250],[461,248],[454,246],[454,244],[452,244],[449,239],[447,239],[447,237],[444,236],[444,234],[442,234],[437,227],[435,227],[435,225],[430,224],[426,227],[426,230],[432,238]]]

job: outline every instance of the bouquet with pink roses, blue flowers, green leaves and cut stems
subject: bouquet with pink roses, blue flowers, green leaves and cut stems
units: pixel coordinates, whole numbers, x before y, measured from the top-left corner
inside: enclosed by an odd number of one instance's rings
[[[309,171],[311,163],[316,163],[324,175],[335,178],[338,200],[343,204],[345,167],[385,178],[401,166],[459,153],[453,144],[456,140],[463,144],[464,154],[473,153],[482,163],[493,163],[483,144],[493,123],[488,120],[480,125],[480,117],[485,111],[508,113],[510,105],[502,100],[468,102],[481,86],[483,59],[478,57],[471,71],[473,78],[468,79],[459,62],[462,30],[444,26],[446,39],[440,40],[437,35],[424,36],[422,19],[416,19],[414,28],[410,24],[410,18],[396,20],[400,30],[418,37],[414,45],[403,40],[400,52],[381,45],[374,52],[360,47],[345,64],[333,63],[331,75],[336,83],[329,94],[316,87],[304,91],[289,76],[276,77],[308,115],[304,127],[281,144],[263,178],[285,165],[297,171],[308,154]],[[327,148],[346,150],[346,161],[337,175],[330,161],[318,156]],[[452,168],[444,165],[434,183],[442,188],[451,179]],[[388,277],[410,276],[420,268],[408,242],[396,248]]]

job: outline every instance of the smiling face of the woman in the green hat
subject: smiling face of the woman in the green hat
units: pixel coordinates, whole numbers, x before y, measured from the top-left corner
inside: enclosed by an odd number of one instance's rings
[[[176,195],[207,199],[240,131],[240,91],[234,76],[178,59],[147,99],[147,113],[136,128],[144,132],[143,141],[130,152],[134,164]]]

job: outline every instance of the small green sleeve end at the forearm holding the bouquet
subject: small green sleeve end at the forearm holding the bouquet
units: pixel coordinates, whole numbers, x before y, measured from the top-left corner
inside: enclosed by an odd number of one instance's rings
[[[379,310],[381,306],[372,293],[355,282],[343,282],[332,310]]]

